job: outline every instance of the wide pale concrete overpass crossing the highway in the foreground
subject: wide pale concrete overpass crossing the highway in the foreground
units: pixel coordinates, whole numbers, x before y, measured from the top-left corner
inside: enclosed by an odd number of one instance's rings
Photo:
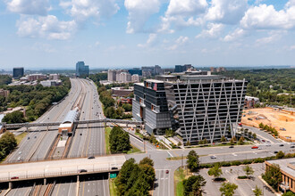
[[[123,155],[101,156],[97,159],[59,159],[0,165],[0,184],[17,181],[81,176],[117,172],[125,162]],[[82,171],[82,172],[81,172]]]

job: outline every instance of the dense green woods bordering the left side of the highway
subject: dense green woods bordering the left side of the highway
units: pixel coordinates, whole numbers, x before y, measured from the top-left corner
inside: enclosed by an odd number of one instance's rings
[[[4,89],[9,90],[10,94],[6,98],[0,96],[0,111],[7,110],[7,108],[23,106],[26,109],[25,120],[35,120],[40,117],[53,102],[59,102],[68,94],[71,88],[71,81],[69,78],[65,77],[61,77],[61,79],[63,81],[63,85],[61,86],[4,86]],[[4,121],[15,121],[13,118],[18,115],[19,114],[15,112],[12,116],[4,118]],[[21,121],[22,120],[23,119],[21,119]]]

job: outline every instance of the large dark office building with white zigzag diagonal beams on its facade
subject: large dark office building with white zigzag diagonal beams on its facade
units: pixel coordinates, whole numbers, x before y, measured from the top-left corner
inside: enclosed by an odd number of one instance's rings
[[[143,120],[148,133],[155,134],[161,133],[158,129],[167,128],[169,123],[173,127],[171,122],[177,119],[177,131],[183,143],[195,144],[205,138],[214,143],[219,142],[222,136],[231,138],[235,135],[232,126],[240,122],[247,82],[210,73],[185,72],[135,84],[133,117]],[[163,102],[156,102],[157,99]],[[162,118],[166,123],[157,127]]]

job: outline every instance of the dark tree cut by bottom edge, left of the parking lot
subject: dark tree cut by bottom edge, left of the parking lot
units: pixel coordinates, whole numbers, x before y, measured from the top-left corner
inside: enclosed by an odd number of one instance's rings
[[[202,195],[202,186],[205,186],[206,181],[203,176],[190,176],[188,179],[183,180],[183,195]]]

